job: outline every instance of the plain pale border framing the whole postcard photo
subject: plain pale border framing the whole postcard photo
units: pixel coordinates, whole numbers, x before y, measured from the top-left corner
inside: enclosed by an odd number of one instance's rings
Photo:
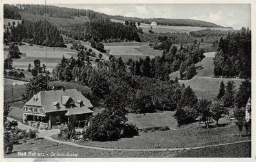
[[[41,0],[3,0],[0,2],[0,8],[1,8],[1,42],[3,42],[3,4],[4,3],[10,3],[10,4],[45,4],[45,1]],[[256,93],[253,93],[255,91],[255,77],[256,77],[256,50],[255,50],[255,44],[256,44],[256,1],[249,1],[249,0],[215,0],[215,1],[198,1],[198,0],[129,0],[129,1],[124,1],[124,0],[87,0],[87,1],[81,1],[81,0],[72,0],[72,1],[67,1],[67,0],[48,0],[47,4],[251,4],[251,34],[252,34],[252,59],[251,59],[251,92],[252,92],[252,107],[256,105],[256,102],[253,98],[256,98]],[[1,56],[3,56],[3,43],[0,43],[0,51],[1,51]],[[253,55],[254,54],[254,55]],[[0,67],[0,77],[3,78],[3,58],[0,58],[0,64],[2,65]],[[1,93],[0,93],[0,98],[1,98],[1,107],[3,107],[3,79],[0,80],[0,85],[1,85]],[[255,116],[256,111],[253,110],[252,108],[252,116]],[[0,121],[3,121],[3,109],[0,109]],[[34,159],[17,159],[17,158],[9,158],[9,159],[3,159],[3,122],[0,122],[0,161],[34,161]],[[252,128],[256,128],[256,122],[255,118],[252,117]],[[37,159],[37,161],[256,161],[256,149],[255,149],[255,129],[252,129],[252,137],[251,137],[251,158],[76,158],[76,159]]]

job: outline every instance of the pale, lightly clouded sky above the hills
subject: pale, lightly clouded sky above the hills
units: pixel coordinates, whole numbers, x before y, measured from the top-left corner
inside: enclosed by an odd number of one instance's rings
[[[53,4],[108,15],[140,18],[195,19],[221,26],[251,28],[250,4]]]

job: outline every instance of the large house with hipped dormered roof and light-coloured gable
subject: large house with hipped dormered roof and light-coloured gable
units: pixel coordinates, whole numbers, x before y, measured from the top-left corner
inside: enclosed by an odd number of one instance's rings
[[[23,123],[37,122],[52,129],[76,116],[76,126],[89,125],[91,102],[76,89],[41,91],[23,107]],[[45,126],[46,125],[46,126]]]

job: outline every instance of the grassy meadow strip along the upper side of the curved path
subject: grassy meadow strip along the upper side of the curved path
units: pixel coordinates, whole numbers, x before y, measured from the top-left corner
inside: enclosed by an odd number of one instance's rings
[[[245,134],[245,131],[242,134]],[[57,136],[53,136],[53,138],[58,139]],[[138,136],[122,138],[117,141],[76,142],[81,145],[114,149],[166,149],[202,147],[250,139],[250,136],[242,136],[240,138],[237,126],[227,118],[222,118],[219,127],[215,127],[215,123],[213,122],[211,123],[210,129],[205,129],[204,123],[191,123],[179,127],[176,130],[171,129],[169,131],[156,132],[140,131]]]

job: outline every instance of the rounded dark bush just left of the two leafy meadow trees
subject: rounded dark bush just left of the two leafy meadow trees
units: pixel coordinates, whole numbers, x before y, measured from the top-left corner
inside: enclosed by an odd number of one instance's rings
[[[180,127],[181,125],[195,122],[197,111],[193,107],[180,107],[177,109],[174,117]]]

